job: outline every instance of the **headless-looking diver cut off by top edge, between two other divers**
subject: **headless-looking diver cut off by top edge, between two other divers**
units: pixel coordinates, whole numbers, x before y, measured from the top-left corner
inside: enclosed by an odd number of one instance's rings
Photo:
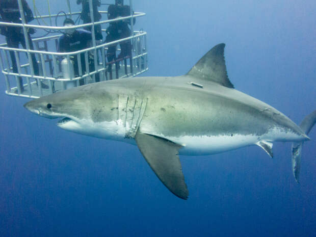
[[[83,20],[84,24],[91,23],[91,17],[90,17],[90,8],[89,8],[89,0],[77,0],[77,4],[82,4],[82,12],[80,14],[80,18]],[[93,8],[93,18],[94,21],[99,21],[101,19],[101,14],[98,11],[98,7],[101,6],[100,0],[92,0],[92,8]],[[87,31],[91,31],[92,27],[85,27],[84,28]],[[94,34],[96,40],[102,40],[102,31],[101,31],[101,25],[97,24],[94,25]]]

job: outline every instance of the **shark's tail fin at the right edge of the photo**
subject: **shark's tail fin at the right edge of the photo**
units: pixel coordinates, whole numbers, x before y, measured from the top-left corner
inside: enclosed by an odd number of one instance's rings
[[[300,127],[306,135],[316,122],[316,110],[307,115],[300,124]],[[295,180],[299,182],[299,175],[301,169],[301,155],[303,142],[293,142],[292,144],[292,168]]]

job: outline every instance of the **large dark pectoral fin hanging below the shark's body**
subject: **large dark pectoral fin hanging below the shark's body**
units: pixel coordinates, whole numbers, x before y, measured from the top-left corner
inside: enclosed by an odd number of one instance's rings
[[[181,146],[140,131],[136,133],[135,140],[145,160],[164,185],[179,198],[188,199],[189,191],[179,159]]]

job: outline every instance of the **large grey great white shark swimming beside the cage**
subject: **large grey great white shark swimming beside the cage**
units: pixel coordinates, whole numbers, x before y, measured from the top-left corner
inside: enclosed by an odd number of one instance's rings
[[[257,145],[273,156],[275,141],[291,141],[298,180],[301,147],[316,121],[302,127],[268,104],[233,88],[225,44],[210,49],[186,74],[89,84],[24,104],[74,133],[135,144],[164,185],[187,199],[180,155],[208,155]]]

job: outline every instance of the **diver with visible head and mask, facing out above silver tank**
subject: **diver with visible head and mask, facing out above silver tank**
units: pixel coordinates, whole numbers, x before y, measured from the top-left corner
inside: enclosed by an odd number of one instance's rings
[[[70,18],[66,18],[63,23],[64,27],[73,27],[74,21]],[[74,52],[78,50],[82,50],[85,48],[91,47],[91,40],[92,40],[92,34],[90,31],[81,30],[81,29],[68,29],[65,30],[65,34],[63,34],[59,40],[58,40],[58,52]],[[81,56],[81,68],[82,73],[85,74],[86,72],[86,59],[85,59],[85,53],[82,52],[80,54]],[[79,67],[78,67],[78,60],[76,57],[71,56],[71,61],[73,62],[73,69],[75,76],[79,76]],[[95,70],[94,65],[94,57],[92,54],[89,54],[88,52],[88,63],[89,63],[89,71]],[[95,81],[99,82],[99,74],[95,74]],[[79,85],[84,85],[84,80],[81,79],[79,81]]]

